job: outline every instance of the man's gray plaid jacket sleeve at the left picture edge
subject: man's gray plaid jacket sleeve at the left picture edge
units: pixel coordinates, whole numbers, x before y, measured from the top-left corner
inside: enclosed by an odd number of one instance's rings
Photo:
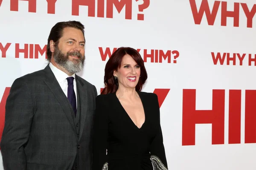
[[[6,100],[5,126],[1,152],[5,170],[26,170],[24,147],[29,139],[34,114],[31,89],[23,79],[16,79]]]

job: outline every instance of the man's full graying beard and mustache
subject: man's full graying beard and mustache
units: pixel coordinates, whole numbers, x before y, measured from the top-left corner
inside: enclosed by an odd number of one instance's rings
[[[76,56],[79,59],[69,59],[69,56]],[[67,54],[64,54],[58,49],[58,46],[56,46],[53,53],[53,58],[58,65],[65,68],[71,74],[78,73],[84,68],[85,57],[82,56],[78,51],[67,52]]]

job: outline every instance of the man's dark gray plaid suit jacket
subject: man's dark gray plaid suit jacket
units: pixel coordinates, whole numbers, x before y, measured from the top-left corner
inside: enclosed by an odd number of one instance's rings
[[[49,65],[15,80],[1,140],[5,170],[91,169],[97,91],[77,75],[76,84],[80,124]]]

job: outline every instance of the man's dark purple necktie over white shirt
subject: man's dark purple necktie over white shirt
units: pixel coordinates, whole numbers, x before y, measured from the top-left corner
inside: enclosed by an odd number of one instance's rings
[[[67,98],[72,105],[73,111],[75,112],[76,116],[76,94],[74,91],[74,77],[67,77]]]

